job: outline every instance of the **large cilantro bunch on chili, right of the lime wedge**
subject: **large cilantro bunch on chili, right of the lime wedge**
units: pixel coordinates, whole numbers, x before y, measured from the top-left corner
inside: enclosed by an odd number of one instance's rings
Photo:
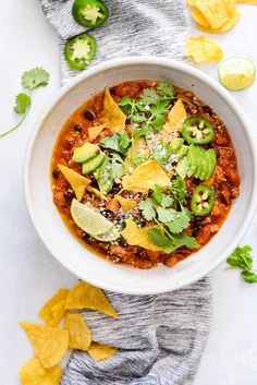
[[[151,195],[138,205],[145,219],[157,224],[149,228],[148,237],[167,253],[182,245],[199,248],[196,239],[184,232],[192,219],[192,213],[182,205],[184,197],[184,181],[178,178],[170,189],[157,185]]]

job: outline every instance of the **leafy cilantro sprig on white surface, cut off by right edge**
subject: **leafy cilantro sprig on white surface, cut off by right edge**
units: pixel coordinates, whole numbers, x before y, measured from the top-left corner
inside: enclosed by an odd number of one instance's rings
[[[254,258],[250,255],[250,245],[236,248],[228,257],[227,263],[231,268],[241,268],[242,278],[248,284],[257,284],[257,274],[253,269]]]

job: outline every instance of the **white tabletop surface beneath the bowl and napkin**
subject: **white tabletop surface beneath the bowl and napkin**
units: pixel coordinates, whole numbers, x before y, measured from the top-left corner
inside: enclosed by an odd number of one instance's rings
[[[257,8],[241,5],[243,19],[233,31],[217,39],[225,56],[244,56],[257,64]],[[44,301],[76,278],[64,270],[41,244],[25,207],[22,170],[29,133],[45,103],[60,86],[58,38],[42,16],[38,1],[2,1],[0,12],[0,128],[15,122],[13,98],[20,92],[20,75],[34,65],[51,73],[48,88],[33,95],[26,123],[0,140],[0,384],[17,385],[19,366],[32,349],[19,320],[37,321]],[[201,69],[217,77],[216,65]],[[257,140],[257,83],[235,95],[253,122]],[[38,155],[44,156],[44,155]],[[257,221],[243,243],[257,251]],[[257,257],[256,257],[257,260]],[[257,261],[256,261],[257,263]],[[237,272],[224,265],[211,274],[213,321],[206,352],[194,385],[257,384],[257,287],[244,284]]]

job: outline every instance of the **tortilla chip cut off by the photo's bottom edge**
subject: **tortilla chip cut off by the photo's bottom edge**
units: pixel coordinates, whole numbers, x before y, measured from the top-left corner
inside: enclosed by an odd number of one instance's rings
[[[22,385],[58,385],[62,377],[62,369],[53,366],[45,369],[34,357],[20,369]]]

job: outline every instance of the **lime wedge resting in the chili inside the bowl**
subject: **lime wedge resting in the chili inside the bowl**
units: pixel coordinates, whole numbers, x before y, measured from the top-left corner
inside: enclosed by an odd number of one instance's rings
[[[114,225],[103,215],[88,204],[84,205],[77,200],[71,204],[71,215],[74,222],[88,234],[95,237],[110,231]]]

